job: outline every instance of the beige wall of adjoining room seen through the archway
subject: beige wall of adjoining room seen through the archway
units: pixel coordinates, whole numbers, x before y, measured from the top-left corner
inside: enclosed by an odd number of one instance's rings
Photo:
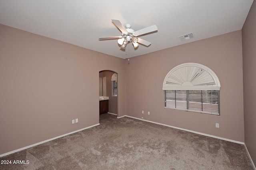
[[[108,112],[117,114],[117,96],[112,96],[112,82],[111,78],[114,72],[104,71],[103,76],[106,77],[106,91],[109,97],[108,101]]]

